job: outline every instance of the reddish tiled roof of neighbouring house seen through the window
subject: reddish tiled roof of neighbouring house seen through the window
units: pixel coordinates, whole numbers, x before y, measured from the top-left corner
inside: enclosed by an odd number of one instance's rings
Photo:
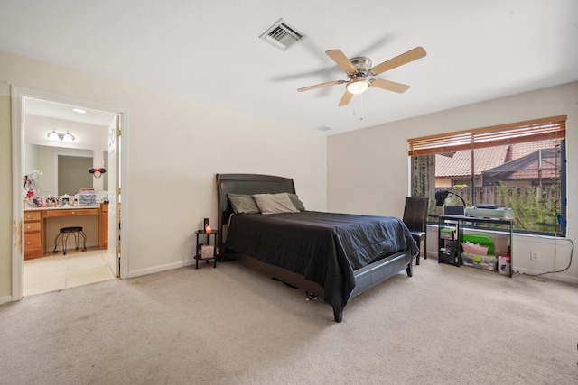
[[[557,140],[541,142],[518,143],[515,145],[503,145],[496,147],[481,148],[476,150],[475,175],[480,176],[482,171],[494,169],[508,161],[517,160],[538,150],[552,149],[558,144]],[[528,170],[532,170],[528,164]],[[536,169],[536,168],[535,168]],[[519,174],[522,175],[522,174]],[[533,175],[536,175],[534,172]],[[462,150],[435,155],[436,177],[470,177],[471,176],[471,151]],[[533,178],[533,177],[528,177]],[[523,178],[522,178],[523,179]]]

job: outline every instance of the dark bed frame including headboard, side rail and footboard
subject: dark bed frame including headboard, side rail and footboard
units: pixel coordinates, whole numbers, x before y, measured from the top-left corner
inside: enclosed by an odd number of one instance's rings
[[[217,174],[217,192],[219,206],[219,233],[217,234],[219,259],[222,261],[232,257],[235,261],[240,261],[253,270],[261,271],[272,278],[282,280],[297,288],[305,289],[313,296],[323,298],[323,288],[316,282],[305,280],[302,275],[293,271],[284,270],[263,261],[257,261],[248,255],[229,255],[227,244],[223,241],[226,239],[224,232],[228,226],[228,219],[230,215],[233,214],[233,208],[228,200],[228,193],[273,194],[287,192],[294,194],[295,187],[293,179],[257,174]],[[413,275],[413,261],[414,258],[410,251],[397,252],[359,270],[354,270],[353,275],[356,280],[356,285],[350,294],[350,298],[354,298],[362,292],[373,288],[404,269],[407,275],[411,277]],[[334,308],[333,316],[336,322],[341,322],[343,319],[342,310],[339,311]]]

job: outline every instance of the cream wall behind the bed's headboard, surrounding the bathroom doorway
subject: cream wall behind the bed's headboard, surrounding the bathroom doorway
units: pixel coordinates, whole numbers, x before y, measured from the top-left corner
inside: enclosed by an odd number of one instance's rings
[[[326,208],[326,137],[151,89],[0,51],[0,170],[11,170],[10,86],[127,111],[123,215],[128,275],[191,261],[202,218],[217,223],[216,173],[294,178],[307,208]],[[11,293],[12,179],[0,175],[0,302]],[[14,197],[21,199],[21,197]],[[17,225],[17,224],[16,224]]]

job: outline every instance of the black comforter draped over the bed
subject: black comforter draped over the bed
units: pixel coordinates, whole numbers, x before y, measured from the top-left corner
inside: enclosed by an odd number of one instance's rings
[[[395,217],[316,211],[232,215],[227,248],[319,283],[338,311],[355,287],[354,270],[396,252],[419,252]]]

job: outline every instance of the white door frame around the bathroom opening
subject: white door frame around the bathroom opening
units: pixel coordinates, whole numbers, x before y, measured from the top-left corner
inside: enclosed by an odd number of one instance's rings
[[[24,145],[24,97],[33,97],[69,105],[79,105],[86,108],[98,109],[120,115],[121,127],[123,128],[123,140],[120,142],[121,150],[120,162],[121,167],[121,186],[123,195],[126,197],[126,127],[127,113],[126,109],[114,105],[105,105],[98,102],[79,99],[72,96],[62,96],[40,91],[33,88],[11,86],[11,115],[12,115],[12,218],[13,218],[13,242],[12,242],[12,300],[17,301],[23,298],[24,292],[24,242],[23,242],[23,145]],[[118,155],[117,155],[118,156]],[[111,186],[108,186],[111,188]],[[116,187],[115,187],[116,188]],[[126,201],[126,199],[125,199]],[[123,203],[121,212],[121,222],[126,224],[127,207]],[[120,236],[124,241],[120,244],[120,278],[128,276],[127,255],[127,234],[126,225],[121,226]]]

